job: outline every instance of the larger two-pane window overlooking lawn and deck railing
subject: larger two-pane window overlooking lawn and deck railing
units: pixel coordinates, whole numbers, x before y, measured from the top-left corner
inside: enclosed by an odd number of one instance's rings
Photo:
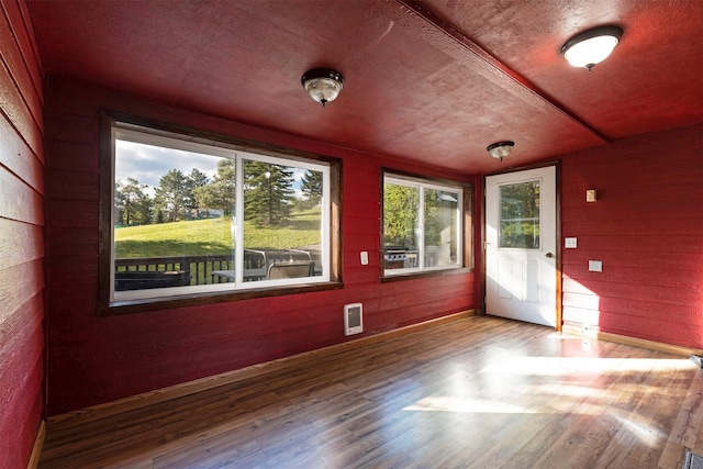
[[[337,279],[328,161],[120,122],[110,133],[110,305]]]

